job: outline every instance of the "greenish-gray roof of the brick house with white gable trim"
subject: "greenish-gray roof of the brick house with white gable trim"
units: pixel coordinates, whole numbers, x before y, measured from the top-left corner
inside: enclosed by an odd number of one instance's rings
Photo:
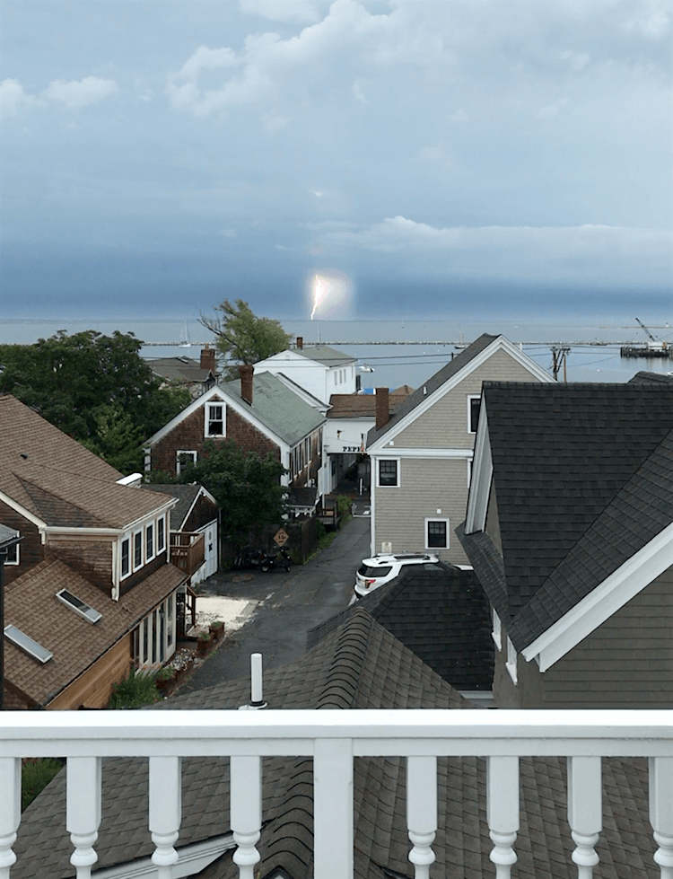
[[[227,382],[220,387],[291,446],[316,430],[325,420],[318,409],[304,402],[272,373],[253,376],[252,405],[240,396],[240,381]]]

